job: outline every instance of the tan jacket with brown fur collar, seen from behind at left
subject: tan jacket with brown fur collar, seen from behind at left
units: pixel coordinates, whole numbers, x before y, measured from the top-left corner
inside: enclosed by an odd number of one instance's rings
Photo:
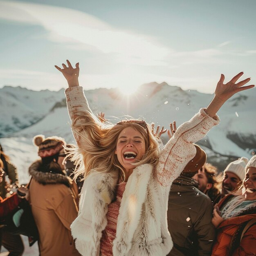
[[[72,181],[38,171],[40,164],[38,160],[29,167],[29,201],[39,232],[40,256],[78,256],[70,231],[78,211]]]

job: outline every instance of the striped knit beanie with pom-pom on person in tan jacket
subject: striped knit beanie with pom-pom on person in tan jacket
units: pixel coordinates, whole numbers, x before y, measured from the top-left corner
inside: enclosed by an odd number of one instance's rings
[[[45,138],[44,135],[36,135],[33,142],[38,146],[38,155],[41,158],[56,155],[63,149],[63,146],[66,146],[65,140],[57,136]]]

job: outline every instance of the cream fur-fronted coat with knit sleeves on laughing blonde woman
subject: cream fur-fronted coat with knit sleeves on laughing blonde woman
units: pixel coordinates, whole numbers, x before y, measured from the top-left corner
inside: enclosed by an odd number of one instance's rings
[[[66,96],[72,121],[78,112],[91,112],[83,88],[68,88]],[[157,166],[142,164],[133,170],[121,200],[113,256],[166,256],[170,252],[173,243],[166,220],[170,186],[195,156],[193,142],[204,137],[218,122],[217,116],[213,119],[201,109],[177,129],[161,151]],[[77,144],[83,145],[83,138],[73,133]],[[83,135],[86,138],[86,134]],[[115,196],[116,184],[117,173],[92,170],[85,179],[79,215],[71,226],[76,248],[83,256],[100,255],[108,204]]]

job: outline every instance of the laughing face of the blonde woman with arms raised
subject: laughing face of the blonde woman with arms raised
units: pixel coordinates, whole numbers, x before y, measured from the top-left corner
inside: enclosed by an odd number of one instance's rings
[[[122,130],[117,139],[115,154],[124,171],[134,169],[132,163],[137,163],[146,153],[146,144],[140,132],[132,127]]]

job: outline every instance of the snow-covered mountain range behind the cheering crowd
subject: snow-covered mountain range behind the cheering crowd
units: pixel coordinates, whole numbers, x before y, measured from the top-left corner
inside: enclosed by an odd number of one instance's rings
[[[184,91],[167,83],[141,85],[130,96],[124,96],[118,89],[105,88],[87,90],[85,95],[92,111],[105,112],[113,123],[129,115],[165,128],[174,120],[177,125],[189,120],[213,98],[211,94]],[[251,157],[256,148],[255,97],[256,90],[252,89],[230,99],[218,112],[221,123],[199,142],[207,151],[208,161],[220,170],[232,157]],[[58,135],[73,142],[64,89],[37,92],[5,86],[0,89],[0,114],[0,142],[22,169],[22,180],[27,180],[27,166],[36,159],[36,148],[32,145],[35,135]]]

